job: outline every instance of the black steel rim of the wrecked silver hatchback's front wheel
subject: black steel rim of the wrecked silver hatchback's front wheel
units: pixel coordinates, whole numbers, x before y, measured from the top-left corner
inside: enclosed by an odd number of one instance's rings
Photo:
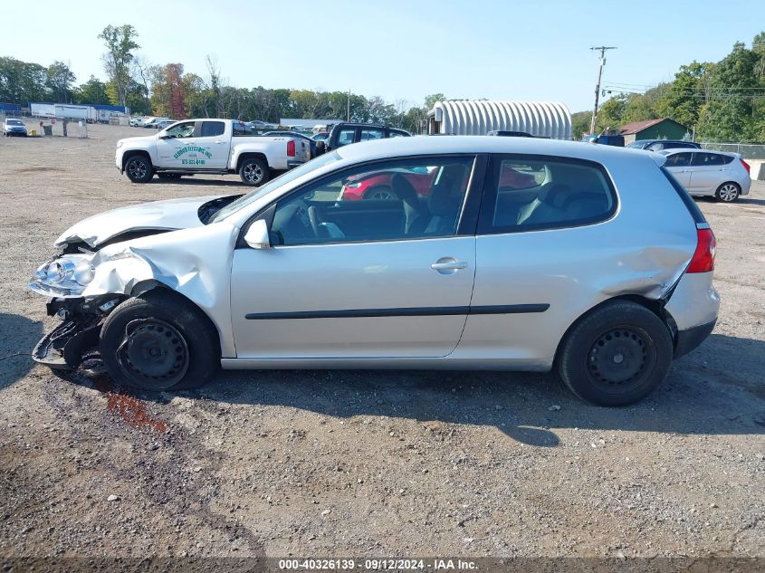
[[[142,387],[163,389],[175,386],[186,375],[189,364],[186,339],[164,320],[132,320],[117,350],[120,369]]]

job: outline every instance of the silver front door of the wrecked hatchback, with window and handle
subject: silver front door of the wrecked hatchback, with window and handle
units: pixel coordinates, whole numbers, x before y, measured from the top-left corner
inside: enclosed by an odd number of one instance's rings
[[[473,229],[465,227],[469,217],[460,228],[458,222],[465,197],[474,193],[466,193],[474,161],[386,160],[343,170],[280,199],[268,217],[271,248],[240,245],[234,251],[237,358],[433,358],[452,352],[473,291],[474,217]],[[411,211],[401,198],[336,200],[351,178],[403,177],[402,169],[417,167],[439,175],[426,200],[431,208],[416,227],[407,224]]]

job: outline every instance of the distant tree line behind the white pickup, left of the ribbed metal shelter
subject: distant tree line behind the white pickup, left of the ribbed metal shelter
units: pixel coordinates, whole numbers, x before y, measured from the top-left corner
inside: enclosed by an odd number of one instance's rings
[[[282,118],[349,118],[421,133],[427,110],[445,99],[437,93],[417,106],[406,100],[389,102],[346,91],[236,88],[226,85],[211,56],[206,60],[205,77],[186,72],[180,62],[148,63],[138,54],[139,34],[130,24],[108,25],[98,37],[106,49],[102,62],[107,81],[91,76],[75,85],[76,78],[65,62],[56,61],[46,68],[0,57],[0,101],[22,106],[29,101],[123,105],[134,115],[173,119],[215,117],[278,123]]]

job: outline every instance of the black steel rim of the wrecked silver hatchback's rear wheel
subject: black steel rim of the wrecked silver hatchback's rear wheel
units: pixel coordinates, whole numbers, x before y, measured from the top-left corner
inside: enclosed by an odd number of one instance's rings
[[[618,326],[604,330],[589,347],[587,372],[607,393],[621,394],[644,384],[655,362],[655,345],[645,330]]]

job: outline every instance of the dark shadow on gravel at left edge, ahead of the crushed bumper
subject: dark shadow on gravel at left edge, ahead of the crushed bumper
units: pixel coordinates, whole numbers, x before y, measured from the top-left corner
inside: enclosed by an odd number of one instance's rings
[[[42,322],[0,312],[0,358],[17,352],[28,354],[42,337]],[[0,390],[23,378],[32,368],[34,362],[29,356],[14,356],[0,361]]]

